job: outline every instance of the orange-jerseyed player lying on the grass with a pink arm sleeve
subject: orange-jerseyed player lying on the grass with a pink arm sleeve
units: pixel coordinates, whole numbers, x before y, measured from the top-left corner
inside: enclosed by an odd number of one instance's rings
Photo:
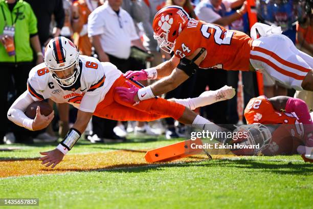
[[[244,117],[250,125],[253,141],[266,141],[259,152],[265,155],[301,154],[304,161],[313,162],[313,122],[305,102],[301,99],[277,96],[252,98],[244,110]],[[265,126],[260,126],[260,123]],[[266,125],[269,124],[269,125]],[[280,124],[280,125],[273,125]],[[236,130],[240,130],[240,127]],[[262,134],[260,134],[262,133]],[[261,140],[260,140],[261,139]],[[236,154],[247,154],[251,150],[237,150]]]

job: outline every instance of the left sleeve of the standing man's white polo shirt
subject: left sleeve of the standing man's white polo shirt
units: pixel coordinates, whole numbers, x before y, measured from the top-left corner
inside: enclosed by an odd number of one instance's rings
[[[100,35],[105,32],[105,22],[99,13],[92,12],[88,16],[88,37]]]

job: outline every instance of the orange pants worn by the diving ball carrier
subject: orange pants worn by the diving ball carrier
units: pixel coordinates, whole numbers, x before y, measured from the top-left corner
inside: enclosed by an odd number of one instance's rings
[[[185,106],[163,98],[143,100],[136,106],[132,106],[132,103],[122,101],[120,96],[115,93],[115,88],[129,88],[126,80],[128,79],[121,75],[113,83],[104,99],[97,105],[94,115],[120,121],[151,121],[165,117],[172,117],[177,120],[183,115]],[[131,80],[128,81],[141,88],[137,83]]]

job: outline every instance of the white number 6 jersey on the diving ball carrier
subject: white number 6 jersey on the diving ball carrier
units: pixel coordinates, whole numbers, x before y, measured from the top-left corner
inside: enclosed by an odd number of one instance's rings
[[[84,112],[94,112],[122,72],[110,62],[94,57],[79,56],[81,72],[71,87],[61,88],[44,63],[34,67],[27,81],[28,93],[35,101],[52,99],[56,103],[70,103]]]

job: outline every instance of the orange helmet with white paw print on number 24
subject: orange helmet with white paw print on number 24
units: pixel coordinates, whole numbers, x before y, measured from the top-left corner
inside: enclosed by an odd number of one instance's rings
[[[167,53],[174,49],[175,40],[189,22],[188,13],[178,6],[167,6],[161,9],[153,18],[154,39],[160,48]]]

